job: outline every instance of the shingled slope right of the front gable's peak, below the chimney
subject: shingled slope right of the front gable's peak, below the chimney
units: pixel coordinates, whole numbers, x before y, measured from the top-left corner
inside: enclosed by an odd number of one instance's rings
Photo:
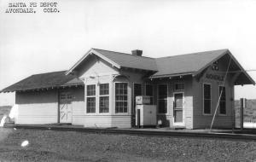
[[[104,55],[111,61],[119,64],[119,66],[121,67],[137,68],[137,69],[150,70],[155,72],[158,71],[154,58],[125,54],[125,53],[114,52],[114,51],[103,50],[103,49],[94,49],[94,50]]]

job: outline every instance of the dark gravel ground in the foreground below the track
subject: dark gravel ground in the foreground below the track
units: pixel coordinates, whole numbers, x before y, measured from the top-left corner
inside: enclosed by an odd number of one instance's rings
[[[27,140],[29,145],[20,147]],[[0,161],[256,161],[256,142],[0,129]]]

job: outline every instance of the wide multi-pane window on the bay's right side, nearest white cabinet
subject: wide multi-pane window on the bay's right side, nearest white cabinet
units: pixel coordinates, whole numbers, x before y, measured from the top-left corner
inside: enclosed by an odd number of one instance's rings
[[[128,112],[127,87],[127,83],[115,83],[115,113]]]

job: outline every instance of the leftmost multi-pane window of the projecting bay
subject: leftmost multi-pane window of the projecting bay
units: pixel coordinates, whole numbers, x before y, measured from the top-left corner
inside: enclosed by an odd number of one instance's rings
[[[86,86],[86,112],[96,113],[96,85]]]

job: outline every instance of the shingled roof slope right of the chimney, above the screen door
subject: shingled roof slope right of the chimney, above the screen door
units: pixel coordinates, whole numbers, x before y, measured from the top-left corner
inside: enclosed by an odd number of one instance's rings
[[[218,60],[228,49],[205,51],[186,55],[174,55],[156,58],[158,72],[152,78],[168,77],[181,74],[194,74],[210,62]]]

